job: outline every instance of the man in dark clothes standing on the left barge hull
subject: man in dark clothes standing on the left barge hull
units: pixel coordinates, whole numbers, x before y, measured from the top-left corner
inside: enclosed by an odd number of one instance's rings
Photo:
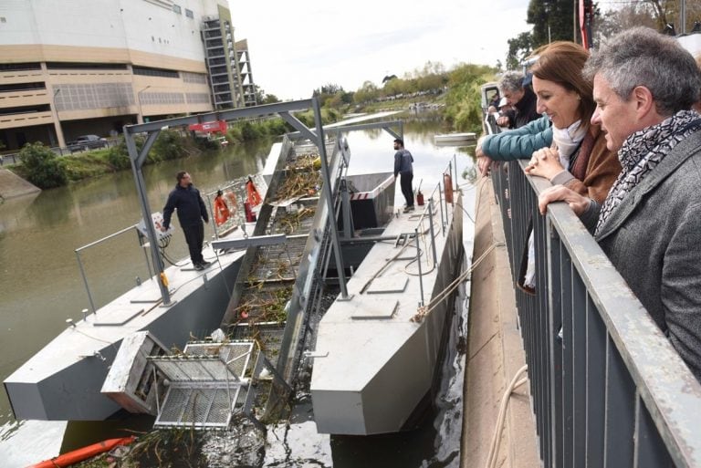
[[[173,210],[178,211],[178,221],[185,234],[185,242],[190,249],[190,259],[193,261],[194,269],[201,271],[210,262],[204,260],[202,256],[202,244],[204,242],[204,224],[209,223],[209,214],[204,207],[204,201],[200,196],[200,191],[194,188],[190,174],[184,171],[175,175],[178,183],[175,189],[168,195],[168,201],[163,208],[162,230],[167,231],[171,225]]]

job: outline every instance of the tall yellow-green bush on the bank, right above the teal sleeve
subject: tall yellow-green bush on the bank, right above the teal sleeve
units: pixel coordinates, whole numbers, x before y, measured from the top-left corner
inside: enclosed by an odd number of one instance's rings
[[[496,68],[462,65],[450,72],[445,120],[458,131],[479,131],[482,121],[480,86],[494,80]]]

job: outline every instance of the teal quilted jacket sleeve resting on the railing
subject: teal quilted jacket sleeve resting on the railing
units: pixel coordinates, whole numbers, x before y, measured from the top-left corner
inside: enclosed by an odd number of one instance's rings
[[[527,160],[533,151],[552,144],[552,128],[547,116],[533,120],[516,130],[488,135],[482,151],[495,161]]]

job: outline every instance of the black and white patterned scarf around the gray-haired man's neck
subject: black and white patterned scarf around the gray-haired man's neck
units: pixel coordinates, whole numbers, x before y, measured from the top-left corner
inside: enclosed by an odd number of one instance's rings
[[[634,132],[623,141],[623,146],[618,151],[623,171],[613,182],[611,191],[603,202],[594,235],[601,232],[603,224],[626,194],[642,182],[679,141],[699,127],[701,119],[694,110],[680,110],[656,125]]]

